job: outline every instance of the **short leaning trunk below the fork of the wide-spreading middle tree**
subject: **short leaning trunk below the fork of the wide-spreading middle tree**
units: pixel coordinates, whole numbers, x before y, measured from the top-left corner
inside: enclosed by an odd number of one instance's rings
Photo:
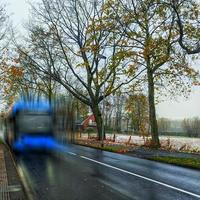
[[[105,134],[102,134],[102,129],[103,129],[103,121],[102,121],[102,115],[101,115],[101,111],[99,109],[99,106],[96,104],[96,105],[93,105],[91,107],[92,109],[92,112],[94,114],[94,117],[95,117],[95,120],[96,120],[96,125],[97,125],[97,134],[98,134],[98,139],[99,140],[102,140],[104,139],[104,136]]]

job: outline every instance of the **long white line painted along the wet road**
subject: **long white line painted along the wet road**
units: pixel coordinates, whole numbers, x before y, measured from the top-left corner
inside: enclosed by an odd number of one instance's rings
[[[127,170],[124,170],[124,169],[121,169],[121,168],[118,168],[118,167],[114,167],[114,166],[112,166],[112,165],[109,165],[109,164],[106,164],[106,163],[103,163],[103,162],[99,162],[99,161],[97,161],[97,160],[93,160],[93,159],[88,158],[88,157],[85,157],[85,156],[80,156],[80,157],[83,158],[83,159],[86,159],[86,160],[95,162],[95,163],[97,163],[97,164],[100,164],[100,165],[103,165],[103,166],[106,166],[106,167],[109,167],[109,168],[118,170],[118,171],[120,171],[120,172],[124,172],[124,173],[126,173],[126,174],[129,174],[129,175],[132,175],[132,176],[136,176],[136,177],[138,177],[138,178],[141,178],[141,179],[144,179],[144,180],[153,182],[153,183],[157,183],[157,184],[159,184],[159,185],[162,185],[162,186],[168,187],[168,188],[170,188],[170,189],[173,189],[173,190],[176,190],[176,191],[179,191],[179,192],[188,194],[188,195],[190,195],[190,196],[200,198],[200,195],[199,195],[199,194],[195,194],[195,193],[192,193],[192,192],[189,192],[189,191],[186,191],[186,190],[183,190],[183,189],[174,187],[174,186],[172,186],[172,185],[169,185],[169,184],[166,184],[166,183],[163,183],[163,182],[160,182],[160,181],[156,181],[156,180],[154,180],[154,179],[151,179],[151,178],[148,178],[148,177],[139,175],[139,174],[135,174],[135,173],[133,173],[133,172],[129,172],[129,171],[127,171]]]

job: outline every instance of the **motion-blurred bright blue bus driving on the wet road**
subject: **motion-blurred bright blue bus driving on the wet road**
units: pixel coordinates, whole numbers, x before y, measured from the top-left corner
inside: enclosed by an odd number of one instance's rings
[[[17,101],[6,117],[5,139],[14,151],[44,149],[54,142],[53,109],[45,101]]]

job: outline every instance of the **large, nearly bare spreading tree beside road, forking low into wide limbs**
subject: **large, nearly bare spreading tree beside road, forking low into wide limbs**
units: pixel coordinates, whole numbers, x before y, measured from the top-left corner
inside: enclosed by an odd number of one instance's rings
[[[37,44],[35,48],[31,41],[27,51],[20,48],[38,71],[51,76],[73,96],[90,106],[96,118],[99,139],[103,137],[100,102],[142,73],[131,77],[123,75],[129,64],[129,61],[125,61],[127,50],[120,45],[123,36],[104,26],[102,6],[103,1],[91,3],[86,0],[42,0],[39,5],[33,6],[33,24],[42,27],[37,37],[42,34],[47,38],[45,40],[55,41],[59,65],[53,64],[52,52],[47,52],[45,45]],[[36,56],[46,52],[51,61],[51,72]]]

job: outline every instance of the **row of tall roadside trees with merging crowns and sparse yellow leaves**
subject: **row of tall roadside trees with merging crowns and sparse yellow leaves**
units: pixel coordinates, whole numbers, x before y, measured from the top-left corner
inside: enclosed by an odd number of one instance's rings
[[[23,71],[21,85],[45,90],[50,102],[62,86],[89,106],[99,139],[103,99],[139,88],[159,147],[157,97],[186,95],[196,81],[187,54],[200,52],[199,10],[194,0],[41,0],[32,5],[28,36],[15,41],[19,67],[10,67]]]

